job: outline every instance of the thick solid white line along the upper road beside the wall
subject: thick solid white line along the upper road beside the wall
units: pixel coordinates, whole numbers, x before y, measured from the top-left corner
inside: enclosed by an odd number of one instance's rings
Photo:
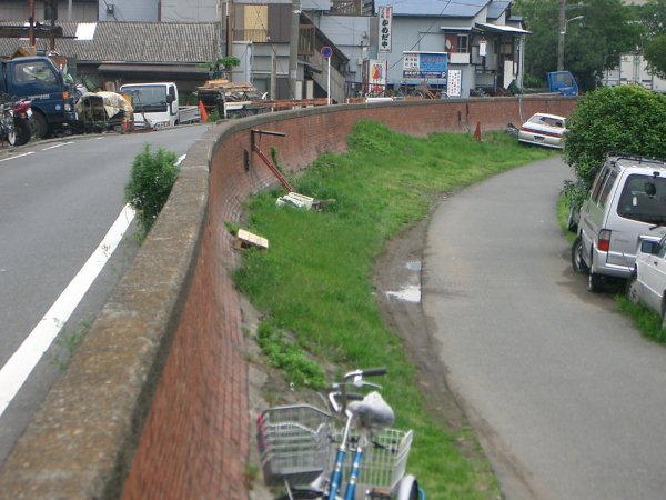
[[[130,206],[125,206],[97,250],[26,338],[21,347],[2,367],[0,370],[0,416],[17,396],[43,353],[88,292],[133,219],[134,210]]]

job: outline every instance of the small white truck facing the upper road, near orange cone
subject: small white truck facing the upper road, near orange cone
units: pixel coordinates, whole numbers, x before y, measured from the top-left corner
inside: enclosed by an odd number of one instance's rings
[[[196,106],[180,106],[174,82],[125,83],[119,89],[130,96],[135,128],[163,128],[201,121]]]

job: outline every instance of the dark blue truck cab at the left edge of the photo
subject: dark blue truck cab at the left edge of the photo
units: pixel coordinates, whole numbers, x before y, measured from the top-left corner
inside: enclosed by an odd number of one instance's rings
[[[77,121],[72,90],[62,71],[48,57],[0,61],[0,92],[7,100],[31,101],[34,133],[41,139]]]

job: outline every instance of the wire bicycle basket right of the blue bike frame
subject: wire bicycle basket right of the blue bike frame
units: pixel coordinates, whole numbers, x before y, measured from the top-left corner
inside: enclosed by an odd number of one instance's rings
[[[377,436],[373,436],[370,444],[363,450],[363,461],[359,480],[356,481],[356,491],[363,492],[372,488],[390,488],[393,490],[398,481],[405,474],[407,459],[412,447],[413,431],[400,429],[385,429]],[[340,436],[334,440],[340,441]],[[347,453],[347,463],[353,456],[353,448],[359,434],[352,431],[350,434],[350,450]],[[329,454],[330,467],[335,463],[335,447]],[[349,480],[350,468],[345,467],[343,480]]]

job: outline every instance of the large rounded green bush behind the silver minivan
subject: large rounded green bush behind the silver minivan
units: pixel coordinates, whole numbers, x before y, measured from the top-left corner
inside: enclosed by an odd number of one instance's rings
[[[666,96],[639,86],[588,93],[569,114],[564,158],[586,192],[610,151],[666,157]]]

